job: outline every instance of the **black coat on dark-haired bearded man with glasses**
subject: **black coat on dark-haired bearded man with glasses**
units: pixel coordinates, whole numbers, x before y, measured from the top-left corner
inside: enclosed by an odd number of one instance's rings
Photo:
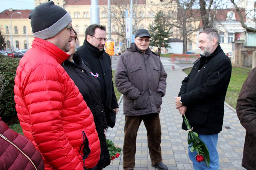
[[[98,81],[101,86],[101,100],[105,108],[105,114],[108,121],[109,115],[115,116],[115,111],[112,109],[118,108],[114,84],[112,81],[110,56],[104,51],[104,49],[100,51],[86,40],[84,40],[83,46],[77,48],[77,53],[88,63],[93,74],[99,74]],[[113,124],[110,125],[108,122],[108,126],[113,127]]]

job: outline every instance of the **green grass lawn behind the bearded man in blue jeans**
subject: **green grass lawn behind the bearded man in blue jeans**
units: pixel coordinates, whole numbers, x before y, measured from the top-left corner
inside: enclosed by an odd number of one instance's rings
[[[183,71],[186,74],[189,74],[190,70],[191,68],[188,68],[188,69],[184,69]],[[232,74],[231,74],[230,82],[228,85],[225,101],[233,108],[236,108],[237,97],[239,95],[241,87],[244,84],[244,81],[247,78],[249,72],[250,72],[250,69],[247,69],[247,68],[232,67]]]

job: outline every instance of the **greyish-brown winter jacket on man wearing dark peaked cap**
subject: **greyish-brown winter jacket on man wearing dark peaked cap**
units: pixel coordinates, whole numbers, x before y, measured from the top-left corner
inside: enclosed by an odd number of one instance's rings
[[[115,84],[124,94],[124,115],[160,113],[167,74],[159,57],[149,48],[141,52],[135,44],[120,56]]]

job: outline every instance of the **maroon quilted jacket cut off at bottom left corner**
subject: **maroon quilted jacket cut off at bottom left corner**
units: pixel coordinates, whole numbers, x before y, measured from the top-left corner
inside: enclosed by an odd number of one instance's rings
[[[0,134],[18,146],[35,164],[38,170],[44,169],[41,153],[36,150],[27,137],[9,129],[0,117]],[[0,169],[8,170],[33,170],[35,167],[17,148],[0,137]]]

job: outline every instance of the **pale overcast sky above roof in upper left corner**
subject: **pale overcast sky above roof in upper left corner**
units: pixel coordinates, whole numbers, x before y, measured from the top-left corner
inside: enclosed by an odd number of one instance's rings
[[[0,12],[12,8],[14,10],[33,10],[34,0],[0,0]]]

